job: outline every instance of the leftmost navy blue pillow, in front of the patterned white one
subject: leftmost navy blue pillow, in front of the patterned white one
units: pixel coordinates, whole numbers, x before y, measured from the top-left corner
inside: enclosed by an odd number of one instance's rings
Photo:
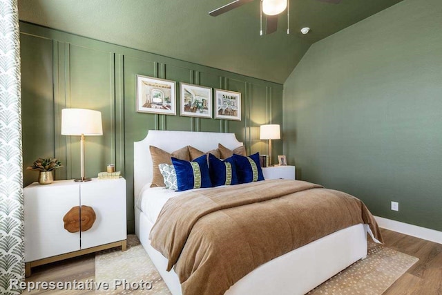
[[[192,162],[172,157],[172,164],[177,173],[177,191],[212,187],[206,155],[202,155]]]

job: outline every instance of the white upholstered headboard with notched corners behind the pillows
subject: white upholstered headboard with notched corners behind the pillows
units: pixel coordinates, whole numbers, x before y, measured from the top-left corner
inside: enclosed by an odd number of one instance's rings
[[[133,186],[135,196],[148,182],[152,182],[152,158],[149,146],[156,146],[172,153],[183,146],[193,146],[200,151],[218,148],[218,143],[228,149],[242,146],[235,133],[190,132],[190,131],[159,131],[149,130],[146,138],[133,143]]]

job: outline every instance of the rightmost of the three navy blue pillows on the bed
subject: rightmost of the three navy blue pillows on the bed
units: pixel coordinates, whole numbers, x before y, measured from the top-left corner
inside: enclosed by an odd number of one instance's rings
[[[260,165],[260,154],[254,153],[249,157],[243,155],[233,155],[236,163],[236,175],[238,175],[238,183],[247,183],[264,180]]]

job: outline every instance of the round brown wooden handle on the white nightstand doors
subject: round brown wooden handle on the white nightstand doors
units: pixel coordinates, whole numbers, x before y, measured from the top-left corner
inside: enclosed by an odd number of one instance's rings
[[[76,233],[80,230],[87,231],[93,226],[95,219],[97,219],[97,216],[92,207],[82,205],[80,210],[79,206],[75,206],[63,218],[64,229],[70,233]]]

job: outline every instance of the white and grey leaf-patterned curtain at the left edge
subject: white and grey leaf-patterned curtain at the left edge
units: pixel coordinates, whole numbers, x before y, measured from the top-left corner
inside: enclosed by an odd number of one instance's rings
[[[24,275],[22,161],[19,12],[0,0],[0,294]]]

